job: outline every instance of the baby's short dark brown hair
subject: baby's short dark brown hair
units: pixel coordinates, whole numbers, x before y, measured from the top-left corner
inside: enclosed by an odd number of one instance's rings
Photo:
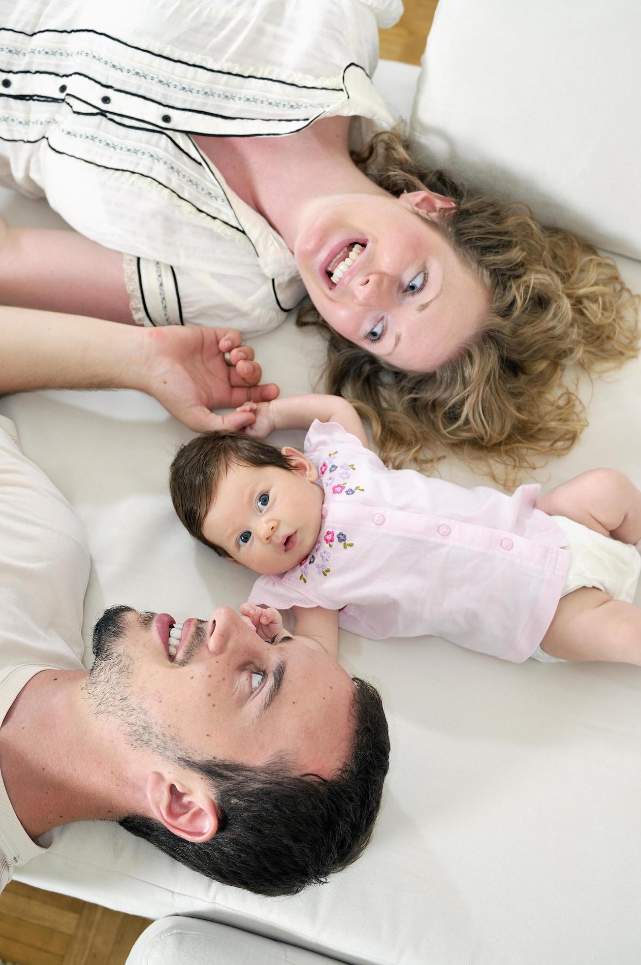
[[[169,471],[169,491],[184,528],[218,556],[228,558],[227,550],[203,536],[203,522],[232,465],[276,466],[293,472],[287,455],[241,432],[205,432],[197,436],[181,446]]]

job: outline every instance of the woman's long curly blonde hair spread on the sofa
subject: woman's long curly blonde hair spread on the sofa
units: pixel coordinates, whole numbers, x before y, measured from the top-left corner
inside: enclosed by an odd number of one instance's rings
[[[446,172],[423,170],[400,132],[383,131],[353,155],[394,195],[428,187],[457,207],[432,220],[490,294],[479,337],[433,372],[400,372],[321,325],[326,391],[352,400],[372,424],[381,458],[433,470],[450,452],[516,483],[542,457],[568,452],[586,426],[582,373],[621,366],[638,350],[638,296],[616,264],[575,234],[543,228],[529,207],[481,195]]]

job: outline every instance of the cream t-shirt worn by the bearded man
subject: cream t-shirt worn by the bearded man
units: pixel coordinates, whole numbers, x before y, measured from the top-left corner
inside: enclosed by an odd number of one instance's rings
[[[14,424],[0,416],[0,726],[39,671],[82,669],[88,577],[77,516],[21,453]],[[0,773],[0,891],[14,868],[43,854],[51,841],[50,833],[38,842],[29,838]]]

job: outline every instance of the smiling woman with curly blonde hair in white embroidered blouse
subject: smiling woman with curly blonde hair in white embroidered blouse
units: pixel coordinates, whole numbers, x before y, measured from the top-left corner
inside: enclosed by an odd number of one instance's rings
[[[576,374],[636,352],[633,298],[578,238],[421,170],[371,81],[400,11],[0,0],[0,180],[77,233],[0,236],[0,300],[256,335],[307,293],[327,388],[391,465],[508,478],[570,449]],[[230,361],[257,381],[251,347]]]

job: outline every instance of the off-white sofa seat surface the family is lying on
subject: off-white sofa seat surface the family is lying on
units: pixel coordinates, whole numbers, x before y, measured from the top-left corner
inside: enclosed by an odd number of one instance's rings
[[[51,218],[42,202],[27,209],[4,196],[3,206],[14,223]],[[641,263],[618,262],[641,290]],[[287,393],[307,388],[321,358],[310,332],[286,322],[255,344],[267,379]],[[571,454],[538,474],[544,488],[595,465],[641,482],[640,387],[638,360],[595,384],[590,426]],[[252,574],[190,542],[174,517],[166,474],[188,433],[156,402],[132,392],[49,392],[2,400],[0,410],[87,527],[88,648],[108,603],[181,619],[243,600]],[[302,433],[281,438],[302,443]],[[443,476],[480,482],[453,463]],[[375,838],[352,868],[300,896],[262,898],[95,822],[58,831],[20,879],[133,914],[239,925],[349,963],[635,962],[641,671],[516,666],[436,639],[349,634],[341,654],[350,672],[378,683],[393,742]]]

